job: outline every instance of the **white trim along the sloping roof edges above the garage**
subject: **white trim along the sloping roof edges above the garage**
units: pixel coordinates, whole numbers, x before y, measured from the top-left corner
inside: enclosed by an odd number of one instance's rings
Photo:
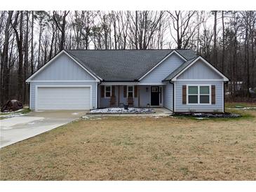
[[[71,58],[74,62],[76,62],[76,64],[79,64],[79,66],[84,69],[86,72],[88,72],[88,74],[90,74],[90,76],[93,76],[93,78],[95,78],[95,80],[97,82],[99,82],[100,80],[102,80],[100,77],[95,76],[94,74],[92,74],[90,71],[88,71],[88,69],[86,69],[85,67],[83,67],[83,65],[81,65],[79,62],[77,62],[72,56],[69,55],[69,53],[67,53],[65,50],[60,51],[60,53],[58,53],[57,55],[55,55],[55,57],[53,57],[53,59],[51,59],[50,61],[48,61],[46,64],[43,65],[43,67],[41,67],[39,70],[37,70],[34,74],[32,74],[32,76],[29,76],[29,78],[27,78],[26,82],[31,82],[31,79],[36,76],[36,74],[39,74],[40,71],[42,71],[44,68],[46,68],[50,63],[52,63],[54,60],[56,60],[56,58],[58,58],[60,55],[62,55],[62,53],[65,53],[69,58]]]

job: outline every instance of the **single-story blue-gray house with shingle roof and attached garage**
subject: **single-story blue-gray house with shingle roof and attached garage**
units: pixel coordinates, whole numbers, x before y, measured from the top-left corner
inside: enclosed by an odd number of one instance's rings
[[[32,76],[29,107],[224,111],[229,79],[193,50],[62,50]]]

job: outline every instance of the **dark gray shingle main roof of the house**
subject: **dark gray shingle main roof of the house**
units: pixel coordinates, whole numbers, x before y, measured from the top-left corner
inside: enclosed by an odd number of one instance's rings
[[[105,81],[135,81],[173,50],[66,50],[90,72]],[[193,50],[176,50],[186,60]]]

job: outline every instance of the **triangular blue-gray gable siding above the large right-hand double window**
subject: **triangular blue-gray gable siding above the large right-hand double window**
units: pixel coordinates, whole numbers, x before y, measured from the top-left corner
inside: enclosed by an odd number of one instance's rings
[[[198,60],[177,79],[222,79],[222,77],[208,67],[206,63]]]

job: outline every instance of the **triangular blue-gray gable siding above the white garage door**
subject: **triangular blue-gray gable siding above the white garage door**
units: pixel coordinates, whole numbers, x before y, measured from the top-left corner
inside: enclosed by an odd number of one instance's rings
[[[65,53],[48,64],[32,81],[95,81],[82,67]]]

